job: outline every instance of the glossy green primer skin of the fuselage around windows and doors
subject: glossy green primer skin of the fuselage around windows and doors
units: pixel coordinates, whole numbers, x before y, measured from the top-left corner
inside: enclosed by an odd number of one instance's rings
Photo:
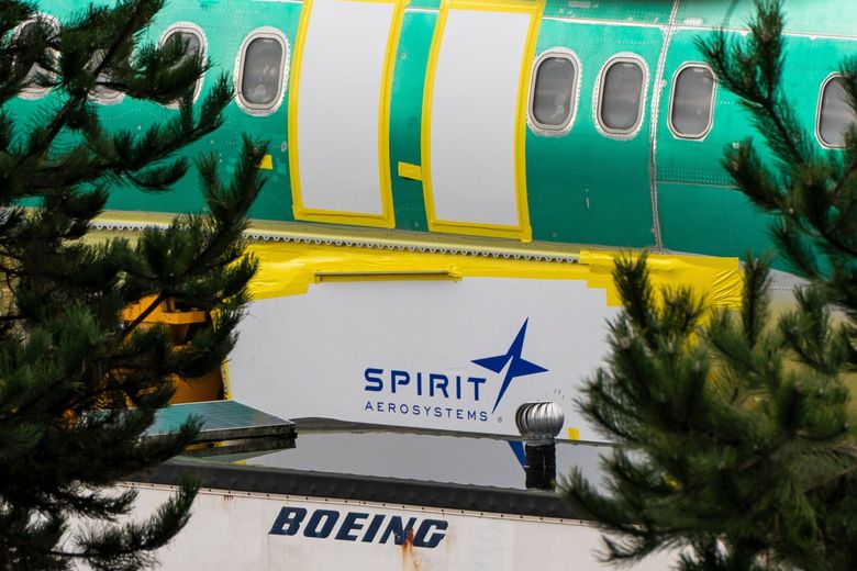
[[[422,99],[429,49],[437,21],[439,0],[414,0],[405,11],[392,79],[390,169],[397,229],[427,232],[420,181],[398,176],[398,164],[420,164]],[[84,0],[43,0],[42,9],[66,20],[86,5]],[[614,247],[655,245],[652,211],[653,158],[652,101],[661,89],[657,105],[655,190],[663,245],[667,249],[711,255],[741,255],[747,247],[770,247],[768,220],[732,189],[721,167],[723,150],[747,136],[758,135],[735,98],[722,87],[716,91],[713,126],[702,141],[676,137],[669,130],[669,99],[676,70],[685,63],[700,61],[694,42],[712,29],[742,26],[752,13],[749,0],[682,0],[670,35],[663,77],[656,78],[665,44],[672,0],[549,0],[541,23],[536,57],[560,47],[581,63],[576,117],[570,131],[546,136],[526,132],[526,180],[535,240],[594,244]],[[302,3],[246,0],[174,0],[159,14],[144,40],[157,41],[178,22],[199,25],[208,40],[214,67],[202,83],[202,93],[219,74],[235,78],[237,54],[244,40],[269,26],[281,31],[293,57],[294,37]],[[799,119],[814,133],[821,85],[839,59],[857,52],[852,22],[857,3],[841,0],[787,0],[789,55],[786,89],[797,105]],[[739,33],[731,31],[730,33]],[[804,35],[793,35],[804,34]],[[639,131],[627,139],[604,135],[596,121],[599,72],[611,57],[631,53],[648,68],[646,102]],[[291,61],[289,61],[291,69]],[[335,63],[332,65],[335,72]],[[237,103],[226,110],[226,123],[216,133],[186,150],[188,157],[214,153],[223,175],[230,175],[241,145],[241,135],[268,139],[274,169],[252,215],[258,220],[294,222],[289,181],[287,145],[288,89],[269,115],[251,116]],[[18,100],[10,111],[21,121],[44,113],[55,94],[36,101]],[[347,93],[342,94],[347,104]],[[176,114],[160,105],[125,98],[120,104],[99,105],[104,124],[112,128],[144,130]],[[463,126],[464,128],[464,126]],[[331,137],[336,136],[335,126]],[[759,141],[760,143],[760,141]],[[819,153],[827,152],[819,145]],[[769,155],[768,158],[770,159]],[[175,192],[145,193],[133,188],[114,192],[110,209],[136,212],[193,212],[202,208],[197,176],[191,172]],[[312,223],[301,223],[311,227]],[[461,238],[466,240],[466,238]]]

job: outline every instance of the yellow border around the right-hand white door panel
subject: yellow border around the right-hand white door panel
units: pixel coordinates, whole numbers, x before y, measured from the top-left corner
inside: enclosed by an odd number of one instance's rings
[[[431,127],[432,127],[432,97],[434,93],[434,79],[437,69],[437,58],[441,54],[446,20],[452,10],[480,10],[486,12],[512,12],[528,13],[530,30],[524,43],[524,54],[521,59],[521,72],[517,81],[517,103],[515,105],[515,134],[514,134],[514,160],[515,160],[515,204],[517,206],[517,225],[483,224],[475,222],[437,220],[434,209],[434,193],[432,190],[432,157],[431,157]],[[429,229],[433,232],[446,232],[453,234],[466,234],[471,236],[492,236],[500,238],[514,238],[521,242],[533,239],[533,229],[530,225],[530,206],[526,198],[526,108],[530,93],[530,80],[532,61],[535,57],[538,27],[544,12],[544,0],[443,0],[437,26],[432,38],[432,47],[429,52],[429,67],[425,72],[425,88],[423,91],[423,117],[421,161],[423,194],[425,197],[425,212],[429,217]]]

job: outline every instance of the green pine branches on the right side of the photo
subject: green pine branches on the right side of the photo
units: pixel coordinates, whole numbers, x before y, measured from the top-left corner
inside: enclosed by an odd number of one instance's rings
[[[857,130],[822,153],[781,89],[782,7],[760,0],[750,34],[700,42],[773,160],[726,152],[738,189],[776,220],[783,260],[806,278],[770,314],[768,260],[747,256],[738,312],[656,291],[646,257],[616,264],[624,311],[583,413],[612,441],[606,493],[579,471],[564,494],[609,533],[605,559],[681,549],[682,570],[857,569],[857,446],[843,380],[857,367]],[[857,61],[843,64],[857,109]]]

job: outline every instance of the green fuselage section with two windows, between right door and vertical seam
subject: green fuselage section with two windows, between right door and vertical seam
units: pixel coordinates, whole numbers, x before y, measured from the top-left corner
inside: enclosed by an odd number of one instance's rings
[[[537,53],[570,49],[581,69],[570,131],[561,136],[527,131],[527,193],[534,239],[654,245],[648,107],[661,44],[663,32],[657,27],[602,27],[556,20],[542,23]],[[622,53],[635,54],[648,67],[642,124],[630,138],[601,133],[596,121],[599,72]]]

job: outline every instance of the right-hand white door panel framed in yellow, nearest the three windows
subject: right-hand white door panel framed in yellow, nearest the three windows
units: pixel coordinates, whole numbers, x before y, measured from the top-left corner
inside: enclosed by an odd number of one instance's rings
[[[514,134],[528,13],[450,10],[434,79],[435,217],[519,226]]]

